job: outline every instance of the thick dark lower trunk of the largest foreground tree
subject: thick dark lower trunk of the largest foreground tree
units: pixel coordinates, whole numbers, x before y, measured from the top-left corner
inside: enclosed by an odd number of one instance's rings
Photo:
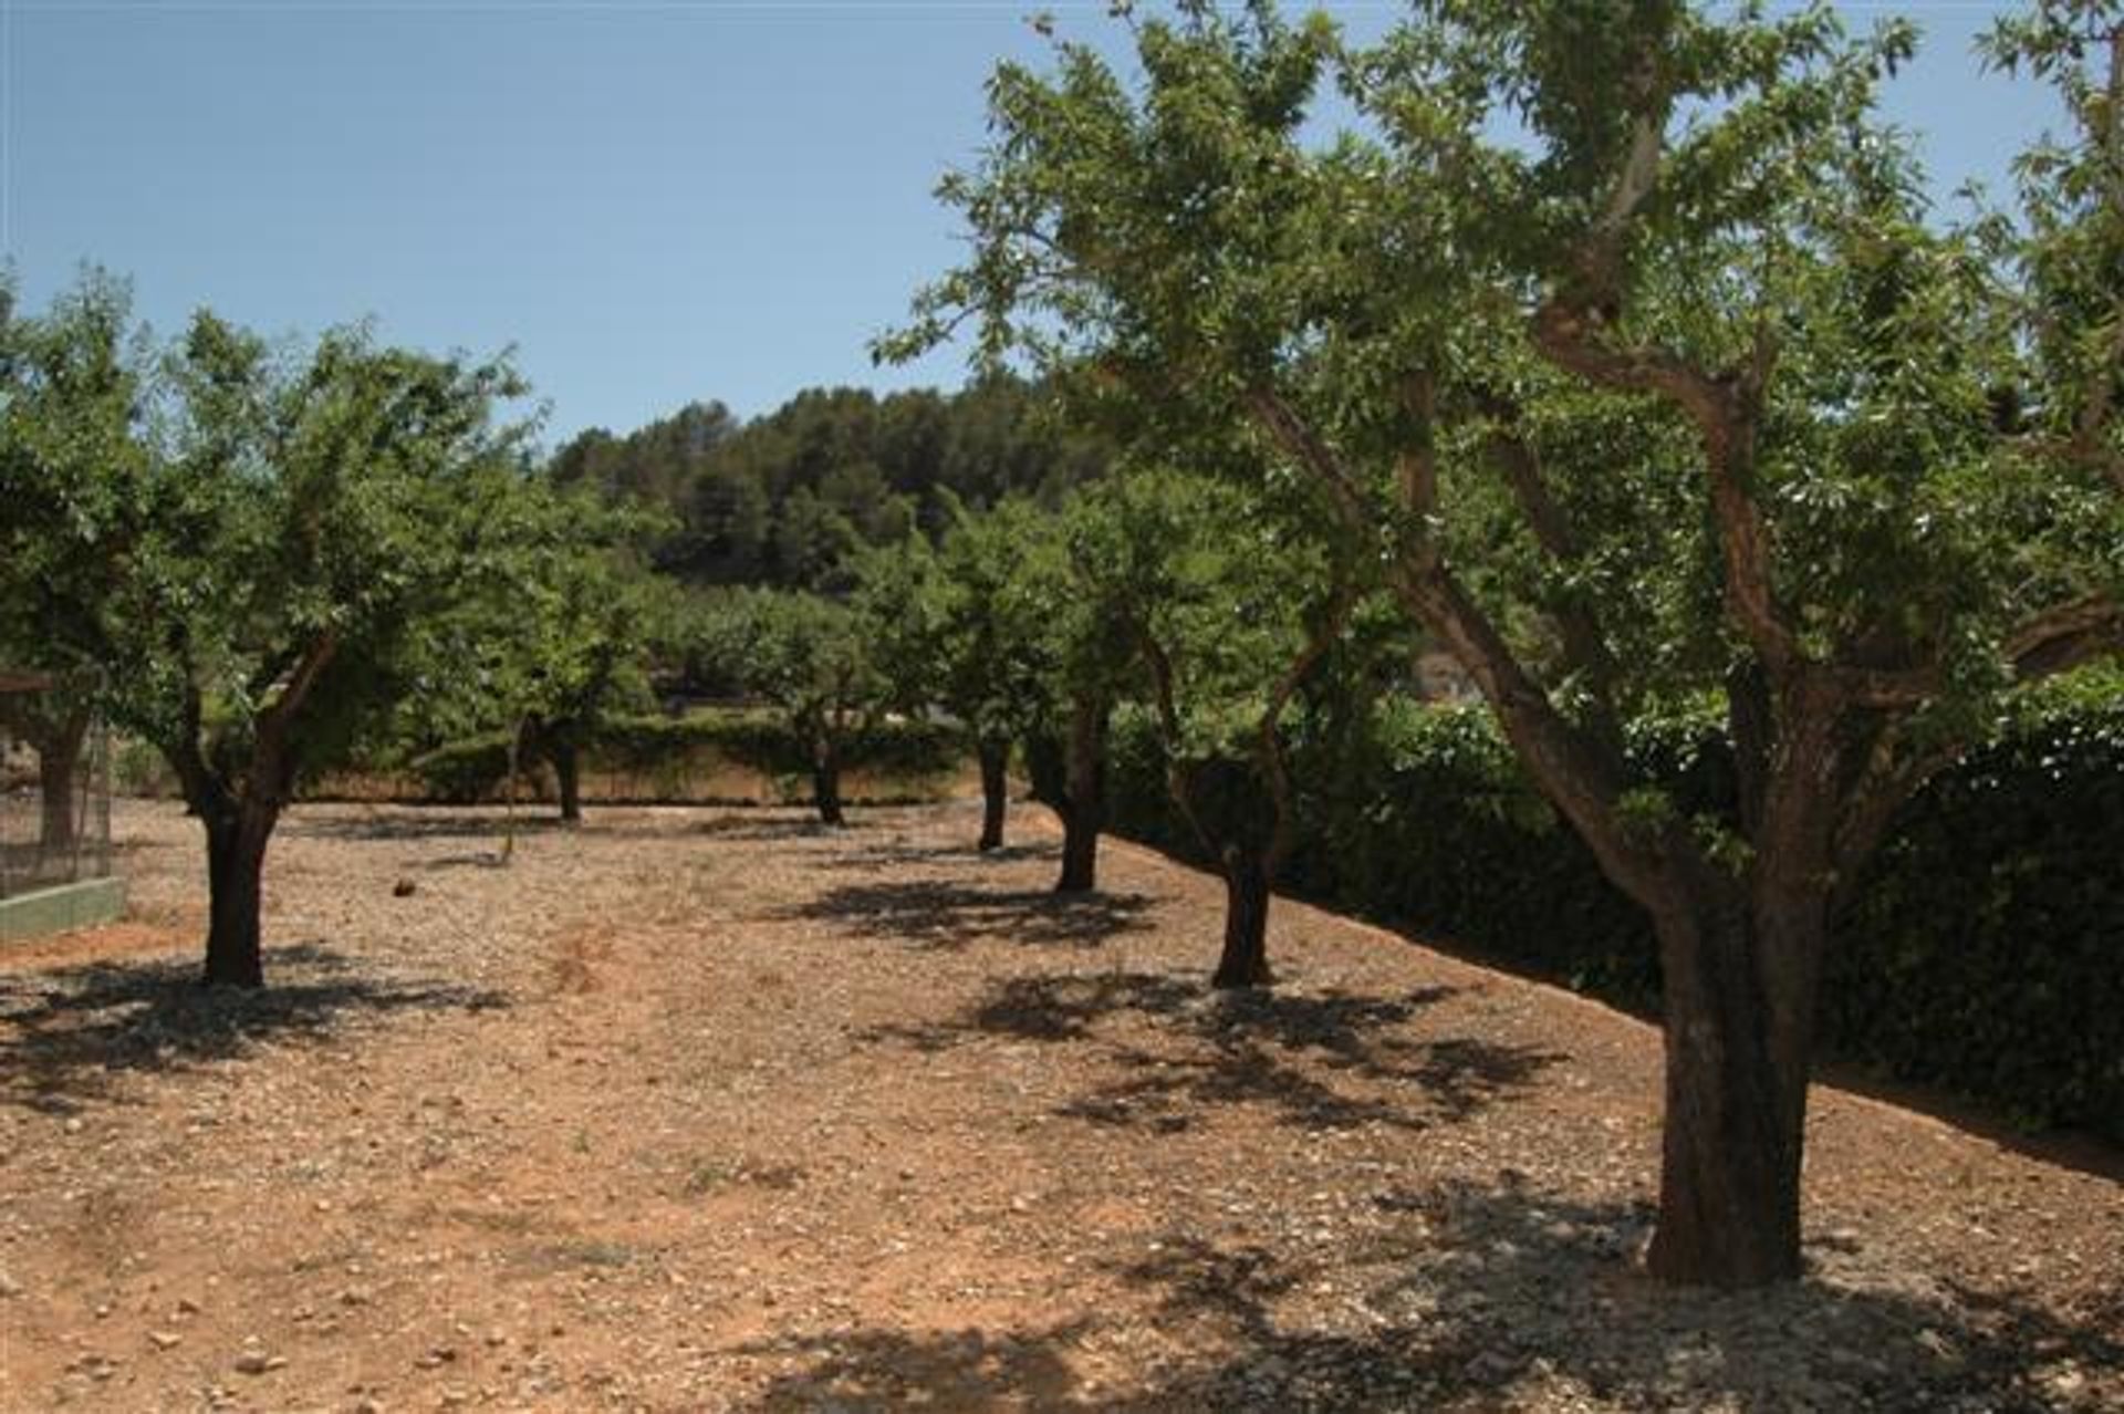
[[[1825,902],[1740,885],[1655,915],[1667,1115],[1652,1276],[1767,1287],[1799,1276],[1799,1168]]]

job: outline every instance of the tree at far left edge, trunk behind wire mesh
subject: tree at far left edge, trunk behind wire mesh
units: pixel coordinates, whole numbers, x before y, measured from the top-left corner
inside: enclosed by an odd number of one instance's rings
[[[123,507],[144,473],[144,352],[121,280],[87,270],[40,316],[0,284],[0,667],[55,688],[0,694],[36,747],[47,849],[74,839],[74,764],[98,705],[102,624],[125,567]]]

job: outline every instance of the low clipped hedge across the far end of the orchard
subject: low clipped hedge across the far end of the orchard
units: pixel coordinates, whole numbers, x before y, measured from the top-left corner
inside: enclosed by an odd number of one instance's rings
[[[862,798],[913,800],[960,769],[962,732],[937,722],[879,722],[852,732],[843,771]],[[429,800],[493,800],[508,786],[508,732],[452,741],[416,756],[408,771]],[[520,762],[529,794],[550,796],[539,762]],[[760,711],[695,711],[684,718],[614,718],[582,754],[588,798],[712,800],[733,794],[729,775],[763,779],[782,798],[805,798],[811,758],[777,718]],[[756,783],[739,783],[754,790]]]

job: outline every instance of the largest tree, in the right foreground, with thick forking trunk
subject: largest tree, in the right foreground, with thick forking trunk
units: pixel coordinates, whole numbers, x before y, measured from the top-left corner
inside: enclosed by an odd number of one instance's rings
[[[943,187],[975,255],[881,344],[979,314],[1179,448],[1247,429],[1381,546],[1652,917],[1663,1278],[1797,1276],[1827,919],[2005,694],[2124,633],[2118,30],[2043,4],[1997,40],[2079,74],[2022,229],[1926,208],[1875,117],[1907,25],[1432,0],[1347,51],[1189,4],[1136,25],[1138,87],[1073,45],[998,70]],[[1330,74],[1355,127],[1308,144]],[[1725,811],[1625,752],[1686,705],[1733,741]]]

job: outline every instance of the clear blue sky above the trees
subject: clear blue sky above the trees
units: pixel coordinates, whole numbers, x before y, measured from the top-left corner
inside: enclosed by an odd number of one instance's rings
[[[873,369],[864,342],[952,263],[930,189],[1041,8],[1115,32],[1104,0],[0,0],[0,246],[32,308],[96,261],[164,333],[206,304],[514,346],[548,442],[954,386],[958,357]],[[1943,189],[2003,187],[2050,106],[1969,57],[2001,6],[1844,8],[1922,21],[1895,113]]]

